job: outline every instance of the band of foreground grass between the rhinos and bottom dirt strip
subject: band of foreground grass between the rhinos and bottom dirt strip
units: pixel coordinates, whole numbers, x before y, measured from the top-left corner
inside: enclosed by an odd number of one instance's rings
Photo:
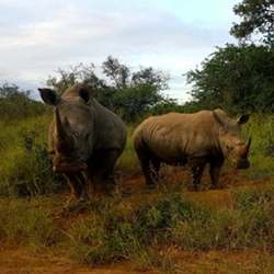
[[[54,219],[50,199],[1,199],[0,240],[35,249],[65,247],[85,264],[130,261],[138,267],[172,269],[161,253],[184,251],[271,250],[274,246],[274,186],[233,192],[233,209],[210,209],[181,193],[159,193],[138,207],[115,198],[87,206],[81,218]],[[66,225],[64,225],[64,221]],[[174,265],[173,265],[174,266]],[[171,272],[172,273],[172,272]]]

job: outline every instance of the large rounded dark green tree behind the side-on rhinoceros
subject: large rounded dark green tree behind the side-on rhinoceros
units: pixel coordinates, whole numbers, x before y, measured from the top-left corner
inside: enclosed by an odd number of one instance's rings
[[[187,72],[192,96],[202,107],[274,111],[274,48],[227,45]]]

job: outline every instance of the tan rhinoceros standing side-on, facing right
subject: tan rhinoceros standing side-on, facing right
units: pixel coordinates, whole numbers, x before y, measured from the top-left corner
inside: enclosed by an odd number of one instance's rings
[[[221,165],[228,159],[237,169],[248,169],[251,138],[240,138],[240,126],[249,114],[230,118],[222,110],[193,114],[169,113],[150,116],[134,132],[134,146],[146,183],[153,186],[161,162],[189,164],[197,191],[204,168],[209,163],[212,187],[218,187]]]

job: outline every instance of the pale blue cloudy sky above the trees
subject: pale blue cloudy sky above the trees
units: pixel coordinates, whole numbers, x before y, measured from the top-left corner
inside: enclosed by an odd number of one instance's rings
[[[165,94],[184,102],[183,76],[235,43],[229,28],[239,0],[0,0],[0,82],[36,89],[58,68],[112,55],[133,70],[170,76]]]

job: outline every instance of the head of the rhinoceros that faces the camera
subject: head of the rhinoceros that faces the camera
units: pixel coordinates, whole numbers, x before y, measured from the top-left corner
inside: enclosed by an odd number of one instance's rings
[[[43,101],[55,107],[49,139],[55,171],[77,172],[87,169],[92,152],[93,114],[89,89],[75,85],[62,96],[50,89],[38,89]]]

